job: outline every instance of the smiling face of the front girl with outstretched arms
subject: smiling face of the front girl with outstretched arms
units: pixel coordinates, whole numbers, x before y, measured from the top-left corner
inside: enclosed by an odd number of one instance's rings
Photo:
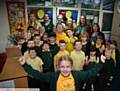
[[[63,60],[60,62],[59,71],[64,77],[69,76],[71,70],[72,70],[72,65],[68,60]]]

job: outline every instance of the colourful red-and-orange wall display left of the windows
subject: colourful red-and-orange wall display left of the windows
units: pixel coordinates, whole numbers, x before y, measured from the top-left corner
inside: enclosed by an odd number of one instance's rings
[[[6,1],[10,33],[22,36],[26,30],[25,2]]]

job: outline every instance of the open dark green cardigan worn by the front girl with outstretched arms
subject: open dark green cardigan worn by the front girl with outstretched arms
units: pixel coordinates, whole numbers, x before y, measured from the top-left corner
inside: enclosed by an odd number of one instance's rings
[[[102,68],[102,65],[103,65],[102,63],[98,63],[88,71],[72,71],[72,75],[75,80],[75,91],[80,90],[81,81],[89,79],[92,76],[95,76]],[[28,72],[29,76],[32,76],[43,82],[50,83],[50,91],[56,91],[56,84],[59,77],[59,72],[47,72],[47,73],[38,72],[36,70],[33,70],[32,67],[26,63],[23,65],[23,67],[26,70],[26,72]]]

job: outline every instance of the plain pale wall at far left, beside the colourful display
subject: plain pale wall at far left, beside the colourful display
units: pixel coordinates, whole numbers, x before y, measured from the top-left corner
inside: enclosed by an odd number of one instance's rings
[[[9,34],[9,24],[5,0],[0,1],[0,53],[5,52],[7,47],[7,36]]]

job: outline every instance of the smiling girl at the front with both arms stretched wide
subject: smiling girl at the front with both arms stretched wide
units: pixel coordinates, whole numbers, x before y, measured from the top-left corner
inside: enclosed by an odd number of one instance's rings
[[[50,83],[49,91],[79,91],[81,81],[95,76],[102,68],[102,62],[104,61],[105,57],[101,56],[101,63],[96,64],[92,69],[88,71],[72,71],[72,59],[69,56],[61,56],[58,61],[59,72],[42,73],[33,70],[25,63],[25,60],[19,60],[30,76]]]

